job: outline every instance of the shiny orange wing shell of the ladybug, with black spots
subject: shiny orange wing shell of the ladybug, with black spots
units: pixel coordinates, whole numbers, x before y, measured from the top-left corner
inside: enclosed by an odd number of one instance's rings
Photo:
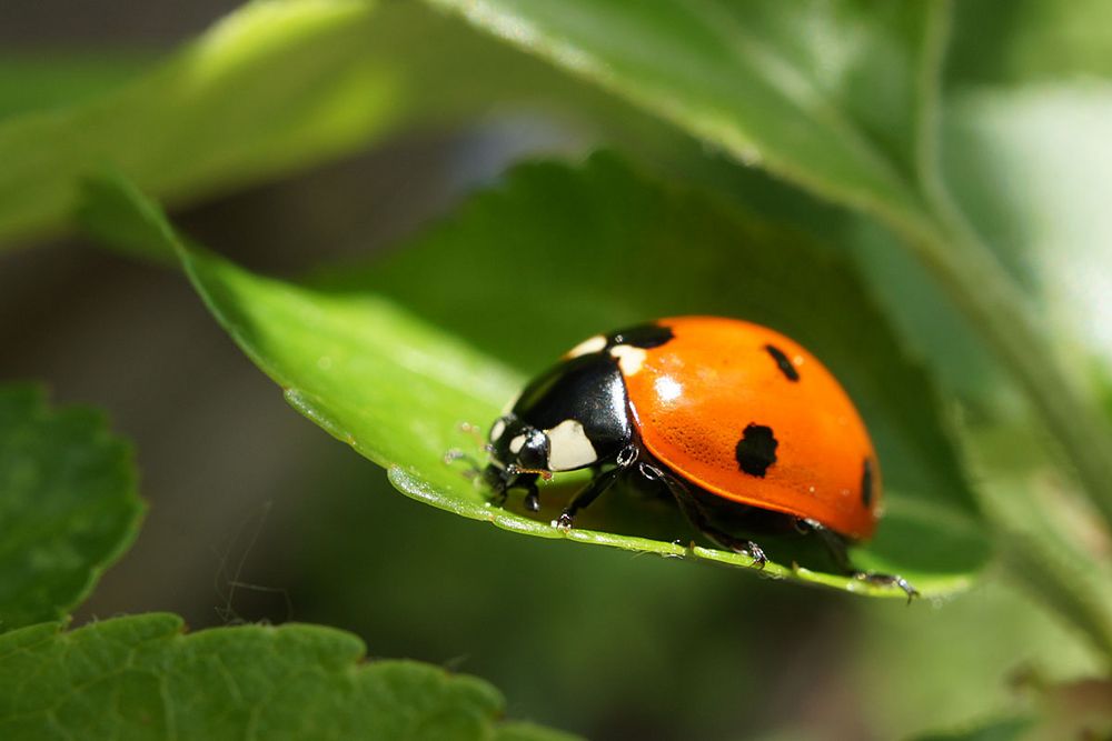
[[[873,534],[881,501],[876,452],[850,397],[814,356],[780,332],[734,319],[657,323],[675,338],[625,373],[653,455],[724,499],[811,518],[854,539]],[[775,462],[763,475],[738,462],[749,425],[767,428],[776,441]]]

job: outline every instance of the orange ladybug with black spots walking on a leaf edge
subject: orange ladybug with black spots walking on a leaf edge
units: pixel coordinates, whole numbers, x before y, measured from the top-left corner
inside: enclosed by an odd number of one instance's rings
[[[537,511],[537,478],[590,469],[556,525],[616,481],[666,491],[715,543],[766,557],[748,532],[823,540],[847,574],[917,592],[850,564],[881,508],[881,469],[865,424],[834,375],[795,341],[718,317],[676,317],[596,334],[536,377],[490,427],[483,479]]]

